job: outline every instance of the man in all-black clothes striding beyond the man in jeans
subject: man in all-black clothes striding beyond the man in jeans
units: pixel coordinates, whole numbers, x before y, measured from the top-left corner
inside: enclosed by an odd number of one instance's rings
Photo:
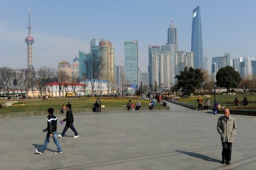
[[[66,133],[68,128],[70,128],[73,131],[73,133],[74,133],[73,138],[79,137],[78,133],[76,132],[76,130],[73,126],[74,118],[73,118],[72,110],[70,107],[71,107],[71,105],[66,105],[66,118],[60,121],[61,124],[63,124],[63,122],[66,122],[66,125],[65,125],[63,131],[61,132],[61,134],[57,135],[59,138],[62,138],[64,136],[64,134]]]

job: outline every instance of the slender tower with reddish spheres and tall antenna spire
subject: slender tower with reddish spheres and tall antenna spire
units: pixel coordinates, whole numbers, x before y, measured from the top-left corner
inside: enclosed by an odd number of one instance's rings
[[[30,36],[31,25],[30,25],[30,5],[28,5],[28,36],[25,37],[26,47],[27,47],[27,67],[29,70],[33,69],[32,66],[32,43],[34,38]]]

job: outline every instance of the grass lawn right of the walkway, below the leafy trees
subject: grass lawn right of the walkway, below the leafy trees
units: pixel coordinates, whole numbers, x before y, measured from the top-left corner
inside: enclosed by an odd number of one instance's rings
[[[248,103],[248,105],[256,105],[256,95],[247,95],[247,94],[235,94],[235,95],[223,95],[223,94],[216,94],[216,103],[220,103],[221,106],[226,105],[226,106],[231,106],[234,104],[225,104],[225,103],[234,103],[234,99],[238,97],[239,101],[240,101],[240,105],[242,105],[242,100],[243,97],[246,97],[248,99],[248,102],[255,102],[255,103]],[[196,96],[190,96],[190,97],[180,97],[180,99],[178,100],[179,102],[183,102],[183,103],[188,103],[194,106],[197,106],[197,102],[196,99],[198,98],[198,95]],[[214,103],[214,95],[210,95],[210,97],[204,97],[202,95],[202,99],[203,99],[203,105],[206,99],[209,99],[210,101],[210,105],[212,106],[212,104]]]

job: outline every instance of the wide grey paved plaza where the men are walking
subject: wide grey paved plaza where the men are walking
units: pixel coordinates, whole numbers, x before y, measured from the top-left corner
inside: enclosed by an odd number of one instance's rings
[[[231,165],[222,165],[220,115],[170,104],[165,111],[75,113],[74,126],[42,155],[45,116],[0,119],[0,170],[255,170],[256,117],[235,115]],[[45,111],[46,112],[46,111]],[[59,120],[64,115],[56,115]],[[58,123],[60,133],[64,126]]]

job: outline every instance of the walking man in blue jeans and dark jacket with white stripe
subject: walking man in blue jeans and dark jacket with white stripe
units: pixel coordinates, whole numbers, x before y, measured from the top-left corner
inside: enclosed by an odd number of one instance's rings
[[[47,132],[47,134],[46,134],[46,138],[44,140],[43,146],[35,149],[35,152],[37,152],[38,154],[42,154],[44,152],[51,138],[53,138],[53,141],[57,146],[57,152],[55,152],[55,154],[62,154],[61,146],[57,138],[57,118],[53,115],[53,112],[54,112],[54,109],[52,108],[48,109],[47,128],[42,130],[42,132]]]

